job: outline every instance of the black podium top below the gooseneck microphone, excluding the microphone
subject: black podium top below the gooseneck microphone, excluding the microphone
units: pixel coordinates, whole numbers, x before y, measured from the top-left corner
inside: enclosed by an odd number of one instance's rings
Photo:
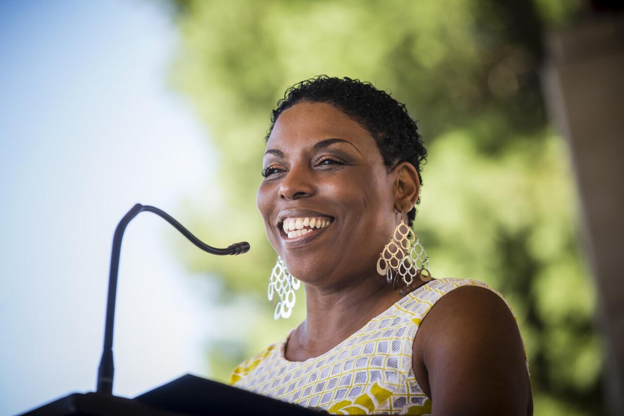
[[[74,393],[21,416],[318,416],[319,414],[321,412],[187,374],[134,399],[105,393]]]

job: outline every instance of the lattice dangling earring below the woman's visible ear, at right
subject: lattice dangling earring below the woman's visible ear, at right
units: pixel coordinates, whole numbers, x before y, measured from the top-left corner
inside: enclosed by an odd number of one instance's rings
[[[432,279],[429,272],[429,257],[419,241],[418,235],[403,222],[392,232],[390,242],[386,244],[377,260],[377,272],[386,275],[388,284],[396,289],[399,280],[405,287],[399,291],[404,295],[415,289],[417,280],[429,282]]]

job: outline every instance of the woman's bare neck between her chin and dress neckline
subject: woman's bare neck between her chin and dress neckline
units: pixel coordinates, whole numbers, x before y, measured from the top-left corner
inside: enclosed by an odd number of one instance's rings
[[[327,352],[401,299],[376,272],[346,287],[323,289],[306,285],[306,320],[288,343],[296,361]]]

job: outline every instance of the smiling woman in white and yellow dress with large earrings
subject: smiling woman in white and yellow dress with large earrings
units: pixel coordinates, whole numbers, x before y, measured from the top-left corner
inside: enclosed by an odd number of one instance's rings
[[[286,91],[266,141],[257,204],[279,256],[269,295],[290,315],[300,279],[307,315],[232,384],[332,414],[532,414],[509,307],[480,282],[431,280],[406,232],[426,149],[404,105],[319,76]]]

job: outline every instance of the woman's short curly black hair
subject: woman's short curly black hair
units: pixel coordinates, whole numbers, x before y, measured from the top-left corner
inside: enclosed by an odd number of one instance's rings
[[[388,171],[401,162],[409,162],[416,167],[422,185],[421,171],[422,164],[426,162],[427,149],[405,104],[396,101],[388,92],[376,89],[370,82],[348,77],[319,75],[301,81],[288,88],[278,101],[271,114],[266,141],[280,114],[298,102],[326,102],[359,122],[377,142]],[[420,201],[418,197],[416,204]],[[411,227],[416,218],[416,207],[407,214],[407,218]]]

